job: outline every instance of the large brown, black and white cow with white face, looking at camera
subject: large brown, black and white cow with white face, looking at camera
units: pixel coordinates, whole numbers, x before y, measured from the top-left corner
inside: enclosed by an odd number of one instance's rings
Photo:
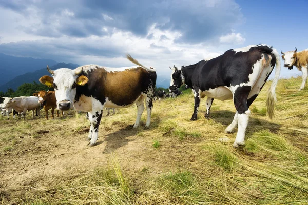
[[[133,128],[137,128],[144,110],[145,99],[147,108],[145,128],[150,126],[156,70],[141,65],[130,55],[127,55],[127,59],[138,66],[107,68],[86,65],[74,70],[61,68],[55,71],[47,66],[48,72],[53,77],[45,75],[40,78],[42,84],[54,88],[57,108],[68,110],[73,106],[76,110],[89,113],[90,146],[94,146],[98,139],[104,107],[127,108],[136,103],[138,114]]]

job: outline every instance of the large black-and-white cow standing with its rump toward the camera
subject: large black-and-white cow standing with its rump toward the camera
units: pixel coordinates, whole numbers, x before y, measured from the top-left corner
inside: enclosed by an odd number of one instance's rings
[[[170,90],[187,84],[194,92],[195,109],[190,120],[197,120],[201,98],[207,96],[206,115],[214,99],[233,99],[236,114],[233,122],[225,130],[238,132],[234,147],[244,145],[245,131],[250,116],[249,106],[256,99],[276,64],[275,78],[267,93],[267,113],[274,116],[276,102],[275,88],[280,74],[280,57],[276,49],[267,45],[251,45],[228,50],[224,54],[201,60],[195,65],[178,69],[173,67]],[[206,117],[206,116],[205,116]]]

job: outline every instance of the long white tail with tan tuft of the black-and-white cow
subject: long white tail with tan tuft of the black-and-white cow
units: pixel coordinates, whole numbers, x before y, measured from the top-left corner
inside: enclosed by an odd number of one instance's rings
[[[279,75],[280,75],[280,56],[276,49],[273,49],[271,53],[276,58],[276,70],[275,70],[275,77],[272,82],[272,85],[271,87],[269,87],[268,92],[267,92],[266,106],[267,106],[267,114],[269,118],[273,119],[275,115],[274,107],[277,101],[275,89],[276,89],[276,86],[279,80]]]

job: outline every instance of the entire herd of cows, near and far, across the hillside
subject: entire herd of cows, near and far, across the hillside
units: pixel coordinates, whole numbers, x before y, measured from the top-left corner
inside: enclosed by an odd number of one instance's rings
[[[308,49],[283,53],[284,67],[292,69],[296,66],[303,73],[300,89],[305,86],[308,77]],[[177,97],[182,94],[179,88],[186,85],[194,93],[195,106],[190,120],[197,120],[201,98],[206,99],[205,118],[210,116],[210,108],[214,99],[232,99],[236,113],[232,123],[225,129],[232,133],[238,126],[234,147],[245,144],[245,132],[250,116],[249,106],[259,95],[269,75],[276,66],[275,76],[267,92],[266,106],[270,118],[274,116],[276,103],[276,85],[280,75],[280,56],[276,49],[264,44],[250,45],[232,49],[209,60],[201,60],[189,66],[170,67],[170,93],[155,91],[156,69],[140,64],[127,54],[127,59],[136,66],[108,68],[98,65],[80,66],[74,70],[61,68],[47,70],[52,77],[42,76],[40,82],[54,91],[40,91],[30,97],[4,98],[2,106],[14,108],[25,117],[27,110],[32,110],[35,117],[42,107],[48,119],[48,110],[54,118],[54,110],[63,111],[75,108],[87,112],[90,130],[87,140],[94,146],[98,139],[99,125],[103,109],[127,108],[137,105],[137,118],[133,128],[140,125],[141,115],[146,108],[147,119],[145,129],[150,127],[153,100],[166,97]],[[145,102],[145,103],[144,103]],[[109,113],[108,109],[108,113]],[[9,114],[9,111],[8,113]]]

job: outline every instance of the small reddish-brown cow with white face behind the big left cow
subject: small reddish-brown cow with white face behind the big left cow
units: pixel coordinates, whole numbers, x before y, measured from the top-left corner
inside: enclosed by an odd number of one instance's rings
[[[51,109],[51,118],[54,119],[54,109],[56,109],[56,98],[54,91],[38,91],[37,93],[33,93],[33,96],[38,97],[38,103],[43,106],[45,110],[46,120],[48,120],[48,110]],[[56,117],[59,117],[59,110],[56,110]],[[63,112],[62,112],[63,117]]]

